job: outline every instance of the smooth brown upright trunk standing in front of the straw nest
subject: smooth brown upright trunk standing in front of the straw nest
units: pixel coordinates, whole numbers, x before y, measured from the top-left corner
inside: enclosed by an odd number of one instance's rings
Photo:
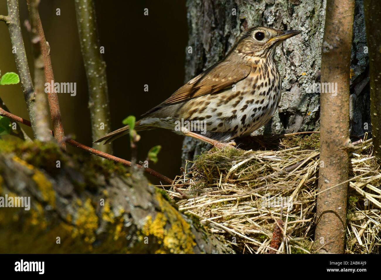
[[[315,242],[321,253],[344,253],[349,139],[349,76],[354,0],[327,0],[322,45],[322,83],[336,92],[320,94],[320,168]],[[336,186],[332,188],[333,186]]]

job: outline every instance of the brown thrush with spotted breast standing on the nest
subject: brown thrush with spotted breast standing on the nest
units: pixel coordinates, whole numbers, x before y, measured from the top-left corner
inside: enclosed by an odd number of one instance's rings
[[[299,33],[264,26],[244,30],[221,61],[143,114],[134,130],[166,128],[218,148],[235,145],[234,139],[265,125],[277,109],[282,80],[275,48]],[[94,142],[107,144],[129,131],[126,125]]]

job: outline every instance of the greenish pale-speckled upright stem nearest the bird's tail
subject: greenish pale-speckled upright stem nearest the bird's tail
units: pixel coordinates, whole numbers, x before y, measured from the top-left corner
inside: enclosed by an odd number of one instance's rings
[[[93,0],[75,0],[78,34],[86,70],[91,134],[93,142],[110,132],[109,94],[106,63],[102,59]],[[94,143],[93,147],[112,153],[111,145]]]

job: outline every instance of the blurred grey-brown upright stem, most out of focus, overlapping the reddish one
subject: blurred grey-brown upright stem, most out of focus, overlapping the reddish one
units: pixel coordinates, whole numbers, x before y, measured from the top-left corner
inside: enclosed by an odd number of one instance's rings
[[[30,33],[31,42],[33,46],[34,58],[34,89],[36,93],[35,114],[36,114],[36,129],[38,140],[47,142],[52,140],[49,133],[49,115],[48,115],[48,102],[45,96],[45,73],[44,73],[44,60],[40,50],[40,36],[37,32],[38,24],[38,6],[39,0],[27,1],[30,23],[25,21],[24,25]]]

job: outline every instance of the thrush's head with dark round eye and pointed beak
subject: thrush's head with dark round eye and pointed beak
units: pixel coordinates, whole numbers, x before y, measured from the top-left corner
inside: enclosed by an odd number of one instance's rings
[[[298,35],[298,30],[280,31],[271,27],[251,27],[235,40],[232,50],[248,56],[272,58],[275,47],[283,40]]]

